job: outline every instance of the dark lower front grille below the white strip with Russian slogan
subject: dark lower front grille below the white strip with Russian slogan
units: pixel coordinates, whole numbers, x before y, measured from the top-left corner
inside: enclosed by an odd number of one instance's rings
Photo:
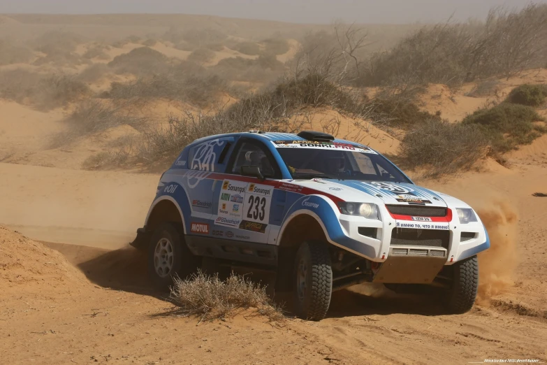
[[[394,228],[391,231],[391,245],[442,247],[448,250],[450,231],[437,229]]]

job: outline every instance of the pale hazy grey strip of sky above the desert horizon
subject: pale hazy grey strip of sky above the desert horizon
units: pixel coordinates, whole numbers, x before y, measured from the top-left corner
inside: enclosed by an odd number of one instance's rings
[[[484,17],[491,6],[521,7],[527,0],[0,0],[0,13],[184,13],[328,23],[459,20]],[[547,0],[537,0],[546,3]]]

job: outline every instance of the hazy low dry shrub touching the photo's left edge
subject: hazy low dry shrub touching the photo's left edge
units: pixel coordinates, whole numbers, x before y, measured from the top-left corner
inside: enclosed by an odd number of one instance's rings
[[[66,106],[89,94],[89,87],[73,76],[44,75],[24,70],[0,73],[0,97],[49,110]]]

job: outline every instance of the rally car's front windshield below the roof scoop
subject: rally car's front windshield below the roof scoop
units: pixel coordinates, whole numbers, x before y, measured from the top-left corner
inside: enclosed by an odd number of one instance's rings
[[[410,183],[391,162],[368,148],[335,150],[277,145],[277,151],[295,180],[325,178]]]

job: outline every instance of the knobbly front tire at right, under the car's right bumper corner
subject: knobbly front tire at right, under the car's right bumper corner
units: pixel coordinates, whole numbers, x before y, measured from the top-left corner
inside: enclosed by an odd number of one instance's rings
[[[451,288],[444,293],[444,307],[451,314],[466,313],[473,307],[479,287],[479,262],[476,256],[453,264],[452,279]]]

